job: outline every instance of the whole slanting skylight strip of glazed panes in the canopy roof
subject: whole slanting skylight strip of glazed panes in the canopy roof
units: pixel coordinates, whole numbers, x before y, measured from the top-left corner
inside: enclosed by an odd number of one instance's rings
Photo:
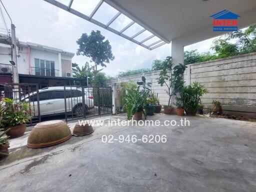
[[[143,24],[136,23],[125,13],[119,12],[115,6],[111,6],[106,0],[44,0],[54,6],[66,10],[76,16],[105,28],[117,35],[120,35],[134,43],[137,43],[149,50],[156,48],[155,45],[162,45],[159,38],[154,36],[154,31]],[[58,2],[58,3],[56,3]],[[71,7],[69,8],[69,3]],[[83,15],[82,15],[83,14]],[[85,15],[85,16],[84,16]],[[0,26],[0,29],[3,27]],[[114,30],[113,30],[114,29]],[[150,30],[151,31],[151,30]],[[132,39],[131,39],[132,37]],[[162,38],[162,37],[161,37]],[[133,40],[134,39],[134,40]],[[142,41],[142,42],[141,42]],[[165,40],[166,41],[166,40]]]

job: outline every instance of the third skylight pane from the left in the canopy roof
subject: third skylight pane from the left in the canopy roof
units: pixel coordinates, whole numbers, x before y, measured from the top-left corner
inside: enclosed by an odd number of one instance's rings
[[[115,8],[103,2],[92,18],[103,24],[107,24],[117,12]]]

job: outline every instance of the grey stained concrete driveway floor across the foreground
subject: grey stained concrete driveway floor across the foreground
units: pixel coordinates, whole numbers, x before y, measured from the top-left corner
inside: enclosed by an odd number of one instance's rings
[[[117,117],[125,119],[110,116]],[[161,124],[180,119],[166,114],[148,118]],[[256,191],[256,124],[186,119],[190,126],[94,126],[90,135],[41,149],[24,146],[27,132],[22,141],[10,141],[10,155],[0,161],[0,190]],[[104,143],[103,134],[165,134],[167,141]]]

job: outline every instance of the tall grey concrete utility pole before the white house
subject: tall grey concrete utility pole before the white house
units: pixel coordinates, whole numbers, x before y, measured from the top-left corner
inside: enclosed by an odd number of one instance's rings
[[[17,65],[17,50],[16,50],[16,35],[15,35],[15,25],[11,24],[11,55],[12,61],[14,61],[13,71],[12,71],[12,79],[13,83],[18,83],[18,65]]]

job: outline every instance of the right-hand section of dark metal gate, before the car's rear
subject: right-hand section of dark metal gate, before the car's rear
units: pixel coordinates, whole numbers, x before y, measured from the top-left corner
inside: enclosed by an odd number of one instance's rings
[[[112,113],[111,87],[64,86],[65,120]]]

